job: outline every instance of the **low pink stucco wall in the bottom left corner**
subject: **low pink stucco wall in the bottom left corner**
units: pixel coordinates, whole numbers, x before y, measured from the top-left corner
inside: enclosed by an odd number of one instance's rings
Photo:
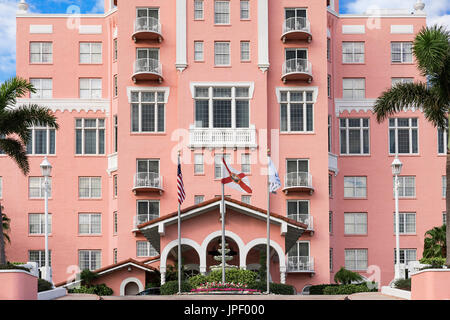
[[[25,271],[0,271],[0,300],[37,300],[37,278]]]

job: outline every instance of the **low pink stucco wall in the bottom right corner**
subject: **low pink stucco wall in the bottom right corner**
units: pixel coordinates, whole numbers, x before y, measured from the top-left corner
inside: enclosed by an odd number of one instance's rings
[[[450,270],[425,270],[411,276],[412,300],[450,300]]]

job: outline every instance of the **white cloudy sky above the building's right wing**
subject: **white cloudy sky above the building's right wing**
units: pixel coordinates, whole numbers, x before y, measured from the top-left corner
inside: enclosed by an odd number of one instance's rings
[[[427,24],[435,23],[444,25],[450,29],[450,0],[424,0],[425,12],[427,13]],[[414,10],[416,0],[350,0],[344,5],[348,13],[363,13],[369,8],[381,9],[410,9]]]

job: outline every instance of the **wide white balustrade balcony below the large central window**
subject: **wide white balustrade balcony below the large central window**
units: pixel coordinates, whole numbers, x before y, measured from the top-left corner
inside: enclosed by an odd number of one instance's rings
[[[256,149],[256,129],[210,129],[195,128],[189,129],[189,147],[194,148],[252,148]]]

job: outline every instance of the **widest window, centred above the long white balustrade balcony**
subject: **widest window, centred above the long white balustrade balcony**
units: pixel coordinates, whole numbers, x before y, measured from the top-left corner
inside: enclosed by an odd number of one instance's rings
[[[196,87],[196,128],[249,128],[248,87]]]

